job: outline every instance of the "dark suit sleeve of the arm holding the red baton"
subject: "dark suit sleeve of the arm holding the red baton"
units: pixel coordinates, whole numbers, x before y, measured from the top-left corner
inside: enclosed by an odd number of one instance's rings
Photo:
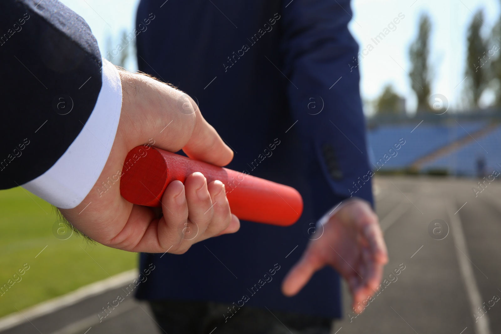
[[[84,128],[102,86],[85,21],[54,0],[0,2],[0,189],[49,170]]]

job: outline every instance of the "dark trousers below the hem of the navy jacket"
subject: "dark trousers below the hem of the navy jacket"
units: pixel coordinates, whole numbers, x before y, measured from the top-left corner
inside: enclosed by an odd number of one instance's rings
[[[332,326],[329,318],[216,302],[163,300],[150,306],[160,332],[168,334],[329,334]]]

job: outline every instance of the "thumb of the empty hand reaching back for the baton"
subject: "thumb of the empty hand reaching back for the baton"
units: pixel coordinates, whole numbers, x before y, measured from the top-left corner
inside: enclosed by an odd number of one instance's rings
[[[313,274],[323,268],[325,262],[308,248],[301,259],[292,267],[282,283],[282,292],[292,297],[308,283]]]

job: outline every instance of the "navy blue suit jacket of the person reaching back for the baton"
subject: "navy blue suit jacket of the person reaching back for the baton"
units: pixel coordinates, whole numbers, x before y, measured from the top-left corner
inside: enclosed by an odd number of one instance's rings
[[[281,283],[324,213],[351,195],[372,202],[349,0],[142,0],[137,24],[150,13],[139,69],[198,101],[235,152],[228,168],[295,187],[304,212],[290,227],[242,221],[183,255],[142,254],[155,269],[137,297],[340,316],[332,268],[292,298]]]

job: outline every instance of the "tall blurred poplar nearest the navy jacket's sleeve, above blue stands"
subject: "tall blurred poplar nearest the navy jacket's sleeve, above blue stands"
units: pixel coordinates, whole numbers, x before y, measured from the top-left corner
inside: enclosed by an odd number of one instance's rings
[[[431,75],[428,64],[430,53],[429,38],[431,32],[431,20],[425,13],[419,19],[419,33],[409,50],[412,64],[409,73],[411,87],[417,96],[417,112],[429,111],[428,97],[431,91]]]

